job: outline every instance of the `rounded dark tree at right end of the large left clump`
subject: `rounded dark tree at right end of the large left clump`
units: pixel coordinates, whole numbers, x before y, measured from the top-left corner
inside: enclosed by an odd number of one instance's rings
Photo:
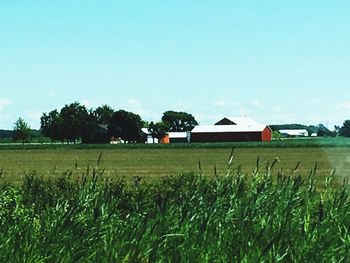
[[[127,142],[141,142],[143,121],[135,113],[119,110],[114,112],[108,125],[108,132],[111,136],[120,137]]]

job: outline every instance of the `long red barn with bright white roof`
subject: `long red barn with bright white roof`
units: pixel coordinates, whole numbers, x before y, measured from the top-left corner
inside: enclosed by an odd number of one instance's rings
[[[214,125],[200,125],[191,131],[191,142],[271,141],[271,129],[247,117],[223,118]]]

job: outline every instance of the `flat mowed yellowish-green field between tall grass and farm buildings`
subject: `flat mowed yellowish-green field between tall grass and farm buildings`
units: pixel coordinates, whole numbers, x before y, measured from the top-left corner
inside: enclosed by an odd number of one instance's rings
[[[199,171],[199,162],[203,174],[224,174],[231,149],[32,149],[0,150],[0,175],[2,181],[19,182],[21,176],[37,171],[43,176],[61,175],[73,171],[78,175],[87,167],[96,166],[102,153],[100,167],[105,175],[112,178],[141,176],[145,180],[165,175],[176,175]],[[307,176],[317,162],[319,176],[329,175],[332,169],[340,178],[350,175],[349,147],[298,147],[298,148],[236,148],[233,168],[241,165],[244,172],[251,172],[256,167],[259,156],[260,169],[264,170],[267,162],[275,157],[280,161],[274,171],[290,171],[300,161],[298,174]]]

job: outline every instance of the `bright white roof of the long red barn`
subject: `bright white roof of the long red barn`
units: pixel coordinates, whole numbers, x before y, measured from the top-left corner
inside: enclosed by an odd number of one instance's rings
[[[233,121],[236,125],[199,125],[194,127],[192,133],[261,132],[267,126],[248,117],[230,117],[227,119]]]

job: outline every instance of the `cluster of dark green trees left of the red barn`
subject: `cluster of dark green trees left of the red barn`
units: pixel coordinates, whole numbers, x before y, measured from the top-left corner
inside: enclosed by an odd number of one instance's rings
[[[82,143],[106,143],[110,138],[125,142],[145,142],[147,128],[153,138],[162,138],[175,131],[190,131],[198,125],[192,114],[186,112],[166,111],[159,122],[150,122],[133,112],[115,111],[108,105],[95,110],[87,109],[78,102],[65,105],[43,113],[40,118],[42,134],[52,141]]]

